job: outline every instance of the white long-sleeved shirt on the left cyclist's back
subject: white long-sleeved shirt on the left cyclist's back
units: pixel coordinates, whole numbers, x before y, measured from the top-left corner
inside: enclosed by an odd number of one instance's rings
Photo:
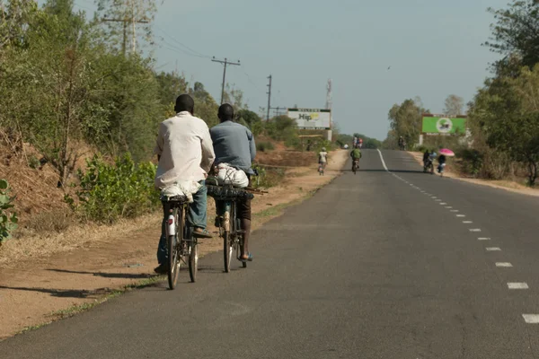
[[[180,180],[204,180],[216,155],[206,122],[183,111],[159,125],[155,154],[161,156],[155,188]]]

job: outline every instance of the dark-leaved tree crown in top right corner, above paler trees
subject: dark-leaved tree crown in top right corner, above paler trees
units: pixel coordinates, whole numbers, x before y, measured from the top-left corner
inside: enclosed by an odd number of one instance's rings
[[[521,66],[539,62],[539,2],[513,0],[508,9],[489,8],[495,22],[492,37],[483,45],[503,55],[494,64],[497,74],[517,74]]]

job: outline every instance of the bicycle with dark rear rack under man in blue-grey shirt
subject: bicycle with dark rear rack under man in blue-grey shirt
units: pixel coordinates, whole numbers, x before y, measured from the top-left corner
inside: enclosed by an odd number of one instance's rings
[[[248,190],[234,188],[232,185],[208,185],[208,196],[214,197],[216,202],[224,206],[224,213],[217,217],[217,221],[219,224],[219,237],[223,239],[225,273],[230,272],[234,250],[236,258],[242,262],[242,267],[247,267],[247,261],[241,258],[243,253],[243,233],[245,232],[242,230],[240,219],[236,216],[236,205],[240,200],[254,198],[254,195]]]

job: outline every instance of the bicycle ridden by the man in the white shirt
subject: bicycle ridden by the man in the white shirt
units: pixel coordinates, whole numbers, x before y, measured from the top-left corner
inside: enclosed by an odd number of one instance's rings
[[[185,196],[161,197],[168,212],[166,220],[166,248],[168,251],[168,283],[172,290],[178,283],[181,262],[189,266],[192,283],[197,280],[199,271],[199,240],[192,236],[192,229],[185,225],[189,201]]]

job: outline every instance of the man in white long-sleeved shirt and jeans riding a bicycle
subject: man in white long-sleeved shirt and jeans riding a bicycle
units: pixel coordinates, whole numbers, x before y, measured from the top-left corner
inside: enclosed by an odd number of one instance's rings
[[[193,227],[193,235],[211,238],[206,230],[207,193],[205,180],[216,158],[211,136],[206,122],[193,116],[195,102],[188,94],[176,100],[176,116],[164,120],[159,126],[155,154],[159,159],[155,175],[155,188],[164,189],[182,180],[195,180],[202,187],[193,195],[187,217],[188,225]],[[161,239],[157,248],[159,267],[155,272],[164,274],[168,270],[165,223],[169,208],[163,204],[163,223]]]

